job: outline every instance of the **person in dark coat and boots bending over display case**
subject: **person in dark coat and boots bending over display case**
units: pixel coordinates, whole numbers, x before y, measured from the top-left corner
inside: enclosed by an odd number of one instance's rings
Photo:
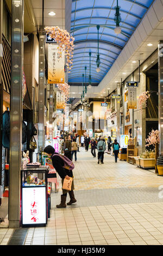
[[[49,157],[51,157],[53,166],[61,178],[62,185],[64,183],[64,179],[69,180],[70,177],[73,178],[72,170],[64,168],[64,165],[65,165],[64,156],[61,156],[59,153],[55,153],[55,149],[51,145],[48,145],[43,151]],[[70,196],[70,202],[68,202],[67,205],[71,205],[71,204],[77,202],[76,198],[74,197],[73,190],[74,190],[74,182],[72,180],[71,191],[62,189],[61,202],[59,205],[56,205],[57,208],[65,208],[66,207],[67,193],[69,193],[69,196]]]

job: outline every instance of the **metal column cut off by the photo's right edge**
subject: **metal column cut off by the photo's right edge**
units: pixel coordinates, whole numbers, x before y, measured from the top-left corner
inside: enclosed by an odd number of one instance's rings
[[[160,131],[160,155],[163,156],[163,41],[159,41],[158,47],[159,66],[159,131]]]

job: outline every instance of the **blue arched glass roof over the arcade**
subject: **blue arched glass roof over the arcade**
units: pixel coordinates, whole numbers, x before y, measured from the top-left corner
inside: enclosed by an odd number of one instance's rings
[[[139,25],[153,0],[118,0],[121,14],[121,34],[115,34],[114,22],[117,0],[72,0],[71,35],[74,36],[73,68],[68,82],[82,82],[82,74],[89,80],[91,52],[92,82],[99,83],[111,68]],[[96,72],[97,25],[99,28],[100,72]],[[85,78],[84,78],[85,82]]]

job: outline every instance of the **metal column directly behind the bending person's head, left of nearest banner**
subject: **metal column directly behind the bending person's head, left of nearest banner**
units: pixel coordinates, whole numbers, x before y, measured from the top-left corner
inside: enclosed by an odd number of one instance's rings
[[[45,142],[44,131],[44,101],[45,101],[45,35],[40,32],[39,36],[39,136],[38,149],[43,151]]]

